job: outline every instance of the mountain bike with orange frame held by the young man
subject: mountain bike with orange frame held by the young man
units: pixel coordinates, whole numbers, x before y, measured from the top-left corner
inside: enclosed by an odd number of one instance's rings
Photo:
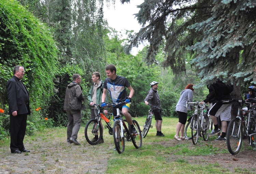
[[[91,145],[96,145],[99,143],[99,141],[102,139],[103,134],[103,127],[101,127],[100,120],[103,119],[106,122],[105,129],[109,129],[109,134],[113,135],[113,129],[111,127],[111,121],[110,116],[112,116],[112,113],[107,113],[106,116],[104,115],[104,112],[102,111],[103,108],[99,105],[92,105],[95,106],[98,110],[98,114],[96,114],[95,119],[91,119],[87,122],[85,129],[84,129],[84,135],[86,141]],[[100,109],[98,109],[100,108]],[[98,135],[98,139],[95,139],[95,136]]]

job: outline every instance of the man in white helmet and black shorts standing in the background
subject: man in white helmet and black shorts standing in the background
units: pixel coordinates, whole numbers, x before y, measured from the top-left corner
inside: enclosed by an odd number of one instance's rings
[[[160,103],[160,97],[157,92],[158,89],[158,82],[153,81],[150,83],[151,89],[148,91],[148,94],[146,98],[144,99],[145,104],[148,105],[148,102],[150,102],[151,105],[157,106],[158,108],[161,108]],[[156,120],[156,136],[164,137],[161,127],[162,127],[162,112],[159,109],[154,110],[155,120]]]

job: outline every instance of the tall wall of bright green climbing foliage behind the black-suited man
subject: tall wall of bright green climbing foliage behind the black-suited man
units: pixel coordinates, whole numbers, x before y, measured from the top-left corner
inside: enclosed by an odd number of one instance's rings
[[[3,106],[8,104],[6,83],[13,76],[14,66],[24,66],[26,74],[22,80],[30,93],[32,111],[28,119],[40,126],[41,116],[47,112],[54,94],[59,57],[46,25],[17,1],[0,0],[0,103]],[[36,113],[38,107],[42,108],[42,115]]]

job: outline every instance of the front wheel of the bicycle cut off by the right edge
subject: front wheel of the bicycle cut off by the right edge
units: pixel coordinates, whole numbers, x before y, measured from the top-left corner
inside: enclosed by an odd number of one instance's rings
[[[227,129],[227,146],[231,154],[237,154],[243,142],[243,127],[238,118],[233,118]]]

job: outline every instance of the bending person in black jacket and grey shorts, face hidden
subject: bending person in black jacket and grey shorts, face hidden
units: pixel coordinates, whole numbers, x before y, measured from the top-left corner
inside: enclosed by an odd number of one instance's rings
[[[217,81],[211,85],[209,85],[209,94],[203,102],[211,102],[216,99],[216,103],[209,110],[209,114],[211,115],[212,122],[214,124],[214,129],[212,130],[210,135],[215,135],[221,130],[218,128],[217,117],[220,116],[221,124],[222,124],[222,135],[219,136],[215,141],[226,141],[226,132],[227,132],[227,121],[231,120],[231,104],[223,104],[221,100],[232,100],[230,93],[233,90],[233,86],[231,84],[226,85],[221,80],[217,79]]]

